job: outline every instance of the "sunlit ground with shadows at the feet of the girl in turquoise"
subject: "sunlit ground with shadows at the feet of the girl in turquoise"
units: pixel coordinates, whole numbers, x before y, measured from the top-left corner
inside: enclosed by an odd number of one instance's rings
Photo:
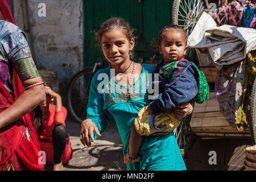
[[[117,126],[113,121],[108,129],[98,138],[92,147],[83,146],[79,139],[81,125],[68,117],[67,131],[70,135],[73,157],[64,165],[64,171],[126,171],[123,163],[123,144]],[[46,171],[52,166],[46,165]]]

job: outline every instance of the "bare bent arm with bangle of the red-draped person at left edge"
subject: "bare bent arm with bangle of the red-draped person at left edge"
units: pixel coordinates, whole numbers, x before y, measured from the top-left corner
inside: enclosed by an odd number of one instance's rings
[[[22,82],[22,84],[24,87],[27,87],[38,82],[42,82],[41,77],[31,78]],[[26,90],[13,105],[0,113],[0,129],[26,115],[40,102],[43,102],[45,97],[46,93],[44,92],[43,85],[33,86]]]

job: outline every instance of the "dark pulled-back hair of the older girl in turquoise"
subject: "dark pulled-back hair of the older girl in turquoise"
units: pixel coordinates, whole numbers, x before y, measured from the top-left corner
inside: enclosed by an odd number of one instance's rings
[[[135,29],[131,29],[130,24],[126,22],[124,19],[115,17],[106,20],[104,23],[101,24],[101,27],[98,28],[98,30],[95,32],[97,42],[100,43],[102,35],[105,34],[105,32],[108,32],[114,28],[120,28],[126,35],[129,42],[131,41],[131,39],[135,39],[135,36],[133,35]],[[133,51],[129,51],[129,56],[130,60],[134,59]]]

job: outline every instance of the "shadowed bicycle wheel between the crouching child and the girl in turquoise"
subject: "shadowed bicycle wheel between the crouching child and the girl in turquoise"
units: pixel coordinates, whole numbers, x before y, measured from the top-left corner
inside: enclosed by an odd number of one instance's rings
[[[86,109],[89,100],[90,81],[92,69],[85,68],[78,72],[71,80],[68,89],[68,107],[76,122],[81,123],[86,119]]]

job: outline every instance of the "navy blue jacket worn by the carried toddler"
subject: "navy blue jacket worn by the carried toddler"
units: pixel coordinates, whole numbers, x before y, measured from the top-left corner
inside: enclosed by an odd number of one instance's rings
[[[162,63],[160,65],[162,66]],[[190,65],[189,65],[190,64]],[[168,64],[167,64],[168,65]],[[187,66],[189,67],[187,68]],[[166,65],[164,65],[166,67]],[[155,72],[159,72],[159,96],[150,103],[153,113],[166,110],[174,110],[177,106],[183,105],[193,100],[197,95],[197,69],[188,60],[180,59],[176,64],[168,69],[159,66]],[[186,69],[187,68],[187,69]],[[162,72],[161,72],[162,70]],[[168,72],[170,76],[164,76],[163,72]],[[183,75],[181,76],[181,74]],[[177,81],[170,85],[171,82]],[[156,89],[156,88],[154,88]]]

